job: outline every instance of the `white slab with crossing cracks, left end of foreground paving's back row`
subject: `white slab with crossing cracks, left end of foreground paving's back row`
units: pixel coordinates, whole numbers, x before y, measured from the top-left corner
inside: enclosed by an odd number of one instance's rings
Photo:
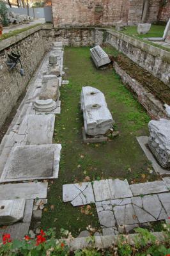
[[[71,201],[73,206],[94,203],[95,198],[91,182],[63,185],[63,201]]]

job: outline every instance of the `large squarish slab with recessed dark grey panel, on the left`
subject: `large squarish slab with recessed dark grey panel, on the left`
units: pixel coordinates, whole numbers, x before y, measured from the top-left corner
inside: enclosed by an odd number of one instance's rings
[[[1,182],[58,178],[60,144],[18,146],[4,166]]]

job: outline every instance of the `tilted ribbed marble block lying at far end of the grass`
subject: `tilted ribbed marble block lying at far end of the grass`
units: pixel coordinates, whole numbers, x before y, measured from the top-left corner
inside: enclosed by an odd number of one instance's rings
[[[109,59],[109,56],[100,47],[100,45],[97,45],[97,46],[91,48],[90,52],[91,52],[91,57],[93,58],[93,61],[95,62],[95,65],[97,67],[101,67],[103,65],[111,63],[111,60]]]

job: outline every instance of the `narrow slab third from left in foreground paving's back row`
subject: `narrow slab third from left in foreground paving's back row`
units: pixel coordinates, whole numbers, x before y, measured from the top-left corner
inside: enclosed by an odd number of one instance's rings
[[[162,180],[132,184],[130,185],[130,189],[134,196],[156,194],[168,191]]]

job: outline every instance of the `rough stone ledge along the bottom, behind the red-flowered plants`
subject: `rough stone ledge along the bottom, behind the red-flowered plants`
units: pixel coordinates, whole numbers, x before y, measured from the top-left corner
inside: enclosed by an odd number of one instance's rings
[[[167,232],[153,232],[153,236],[157,237],[157,240],[164,242],[167,239]],[[128,235],[114,235],[114,236],[96,236],[94,243],[89,243],[91,237],[77,237],[72,241],[70,239],[64,239],[65,243],[70,247],[70,250],[81,250],[84,248],[110,248],[112,245],[117,245],[121,237],[125,237],[125,241],[128,244],[134,244],[134,238],[140,236],[139,234],[128,234]],[[63,241],[63,240],[59,240]]]

